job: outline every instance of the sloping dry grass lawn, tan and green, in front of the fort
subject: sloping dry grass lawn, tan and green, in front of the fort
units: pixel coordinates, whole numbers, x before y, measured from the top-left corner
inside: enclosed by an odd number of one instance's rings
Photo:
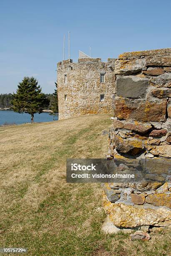
[[[67,158],[103,158],[110,115],[0,128],[0,247],[28,255],[171,255],[171,234],[104,235],[100,184],[65,182]],[[16,254],[15,254],[16,255]]]

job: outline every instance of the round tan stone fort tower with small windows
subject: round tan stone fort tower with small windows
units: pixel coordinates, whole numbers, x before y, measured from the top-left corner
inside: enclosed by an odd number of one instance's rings
[[[114,63],[100,58],[79,57],[57,64],[59,119],[84,114],[113,113]]]

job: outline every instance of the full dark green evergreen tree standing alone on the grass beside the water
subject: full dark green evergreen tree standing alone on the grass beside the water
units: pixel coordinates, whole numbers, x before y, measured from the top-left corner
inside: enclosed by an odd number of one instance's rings
[[[16,93],[13,93],[13,110],[18,113],[28,113],[31,115],[31,123],[34,122],[34,114],[42,113],[48,107],[49,100],[41,92],[42,88],[34,77],[24,77],[18,84]]]

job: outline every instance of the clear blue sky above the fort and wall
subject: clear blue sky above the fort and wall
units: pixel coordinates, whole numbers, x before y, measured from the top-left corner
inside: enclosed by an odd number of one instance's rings
[[[117,58],[125,51],[171,47],[170,0],[0,0],[0,93],[15,92],[24,76],[43,92],[55,89],[56,63],[93,57]]]

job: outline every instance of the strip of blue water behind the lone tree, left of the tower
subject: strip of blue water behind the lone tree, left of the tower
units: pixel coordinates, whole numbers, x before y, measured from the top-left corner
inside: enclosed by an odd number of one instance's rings
[[[31,115],[23,113],[16,113],[13,110],[0,110],[0,125],[3,124],[21,124],[30,123]],[[58,119],[55,117],[55,119]],[[51,122],[53,121],[53,116],[49,113],[36,113],[34,115],[34,122]]]

